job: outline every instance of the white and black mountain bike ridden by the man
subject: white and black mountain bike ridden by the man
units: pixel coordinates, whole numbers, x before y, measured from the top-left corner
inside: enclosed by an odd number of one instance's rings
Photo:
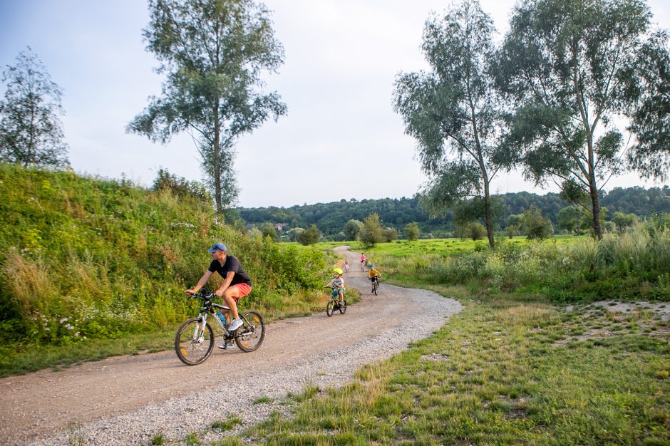
[[[216,309],[230,311],[230,308],[213,303],[212,299],[216,297],[215,294],[203,288],[200,293],[193,294],[191,297],[202,299],[204,303],[200,308],[200,316],[188,319],[177,329],[175,351],[182,363],[196,365],[205,362],[210,357],[214,348],[214,331],[212,331],[212,324],[207,323],[208,314],[212,315],[212,319],[222,329],[224,345],[234,341],[239,350],[244,352],[254,351],[260,347],[265,337],[265,323],[257,311],[239,313],[242,326],[237,330],[228,331],[227,326],[217,317]]]

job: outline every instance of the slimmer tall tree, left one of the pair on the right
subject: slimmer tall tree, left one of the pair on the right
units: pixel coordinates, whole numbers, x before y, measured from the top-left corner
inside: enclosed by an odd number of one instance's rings
[[[406,133],[418,141],[430,177],[423,201],[431,214],[463,199],[482,197],[482,217],[493,248],[490,182],[504,165],[498,151],[503,113],[491,76],[493,21],[475,0],[465,0],[423,31],[430,72],[401,73],[393,105]]]

